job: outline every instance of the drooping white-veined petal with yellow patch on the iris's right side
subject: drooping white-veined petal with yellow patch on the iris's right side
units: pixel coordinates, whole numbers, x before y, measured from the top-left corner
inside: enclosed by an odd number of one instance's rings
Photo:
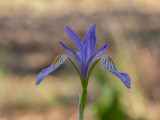
[[[101,58],[103,60],[103,68],[105,70],[108,70],[112,74],[116,75],[127,88],[131,88],[131,78],[127,73],[118,72],[114,61],[109,56],[100,56],[98,58]]]

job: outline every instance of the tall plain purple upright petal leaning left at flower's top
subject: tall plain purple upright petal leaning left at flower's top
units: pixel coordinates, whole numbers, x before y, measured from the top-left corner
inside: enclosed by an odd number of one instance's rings
[[[80,52],[82,50],[82,45],[76,33],[74,33],[74,31],[71,30],[68,26],[66,26],[66,33],[74,41],[78,51]]]

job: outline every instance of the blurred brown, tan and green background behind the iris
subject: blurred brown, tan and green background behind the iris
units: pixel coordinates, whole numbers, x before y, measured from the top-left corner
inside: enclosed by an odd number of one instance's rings
[[[35,86],[36,75],[54,58],[76,51],[65,33],[82,40],[96,24],[96,49],[127,72],[132,89],[102,61],[88,86],[86,120],[160,120],[159,0],[4,0],[0,1],[0,120],[76,120],[81,84],[69,61]]]

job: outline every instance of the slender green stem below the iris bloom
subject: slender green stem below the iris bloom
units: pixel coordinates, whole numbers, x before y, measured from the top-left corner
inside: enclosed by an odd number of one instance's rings
[[[87,101],[87,89],[83,89],[82,96],[79,100],[78,120],[84,120],[85,105]]]

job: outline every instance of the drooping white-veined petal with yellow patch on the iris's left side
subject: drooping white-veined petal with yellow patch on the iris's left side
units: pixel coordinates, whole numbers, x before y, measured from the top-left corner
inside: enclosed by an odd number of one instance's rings
[[[68,55],[60,55],[60,56],[57,56],[53,63],[51,64],[50,67],[48,68],[45,68],[43,69],[38,75],[37,75],[37,78],[36,78],[36,85],[39,85],[42,80],[48,75],[50,74],[51,72],[53,72],[54,70],[56,70],[62,63],[64,63],[64,61],[66,59],[69,59],[70,61],[72,61],[72,64],[74,64],[74,67],[76,67],[78,69],[78,66],[76,64],[76,62],[72,59],[72,57],[68,56]]]

